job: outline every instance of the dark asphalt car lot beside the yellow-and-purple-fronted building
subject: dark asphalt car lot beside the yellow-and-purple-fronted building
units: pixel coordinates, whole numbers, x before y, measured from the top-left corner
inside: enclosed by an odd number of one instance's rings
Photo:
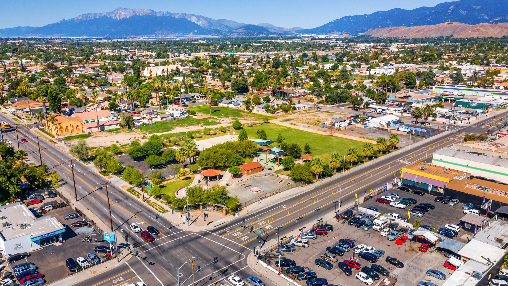
[[[384,195],[387,195],[388,193],[397,193],[400,195],[401,199],[404,197],[411,197],[417,200],[417,204],[412,204],[410,207],[407,207],[405,209],[398,209],[394,207],[390,207],[389,205],[385,205],[382,203],[377,203],[375,201],[376,198],[380,198]],[[414,206],[423,204],[423,203],[429,203],[432,204],[435,209],[429,210],[426,212],[423,217],[417,217],[415,215],[411,215],[409,222],[412,223],[416,219],[419,219],[421,221],[421,224],[424,225],[430,225],[430,226],[436,226],[437,229],[440,227],[444,227],[445,224],[457,224],[459,223],[459,219],[464,216],[462,207],[464,206],[464,203],[459,202],[455,206],[449,206],[448,204],[441,204],[440,202],[434,202],[434,199],[436,197],[430,194],[425,195],[417,195],[411,192],[405,192],[398,189],[391,189],[387,192],[379,193],[378,195],[374,196],[372,199],[369,199],[368,201],[364,202],[362,204],[362,207],[368,207],[372,206],[378,209],[380,213],[386,212],[386,213],[396,213],[399,214],[402,217],[407,218],[407,211],[411,208],[414,208]],[[396,200],[397,202],[398,200]],[[461,242],[467,243],[467,238],[462,237],[465,232],[462,232],[461,235],[456,237],[455,239],[459,239]]]

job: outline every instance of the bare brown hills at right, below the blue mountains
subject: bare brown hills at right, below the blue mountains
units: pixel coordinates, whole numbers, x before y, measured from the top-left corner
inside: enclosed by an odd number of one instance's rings
[[[454,38],[501,38],[502,36],[508,36],[508,23],[469,25],[447,22],[430,26],[376,28],[362,35],[382,38],[433,38],[451,35]]]

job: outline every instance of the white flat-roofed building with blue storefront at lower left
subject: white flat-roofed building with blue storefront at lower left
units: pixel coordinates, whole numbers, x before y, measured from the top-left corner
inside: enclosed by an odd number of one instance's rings
[[[55,244],[65,232],[55,217],[36,218],[23,203],[2,206],[0,216],[0,248],[6,256]]]

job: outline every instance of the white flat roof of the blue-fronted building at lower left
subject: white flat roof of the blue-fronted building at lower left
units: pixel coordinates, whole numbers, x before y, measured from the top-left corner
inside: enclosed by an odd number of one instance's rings
[[[5,217],[5,219],[0,220],[0,234],[4,240],[27,234],[30,235],[30,238],[36,238],[65,228],[51,215],[36,218],[23,203],[1,207],[0,216]],[[9,225],[4,227],[4,223]],[[22,226],[24,228],[21,228]]]

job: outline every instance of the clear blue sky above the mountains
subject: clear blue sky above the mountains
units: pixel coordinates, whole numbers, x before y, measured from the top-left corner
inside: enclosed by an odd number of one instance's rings
[[[154,11],[199,14],[214,19],[228,19],[246,24],[261,22],[276,26],[313,28],[347,15],[370,14],[393,8],[432,7],[444,0],[3,0],[0,4],[0,28],[43,26],[92,12],[108,12],[118,7]]]

